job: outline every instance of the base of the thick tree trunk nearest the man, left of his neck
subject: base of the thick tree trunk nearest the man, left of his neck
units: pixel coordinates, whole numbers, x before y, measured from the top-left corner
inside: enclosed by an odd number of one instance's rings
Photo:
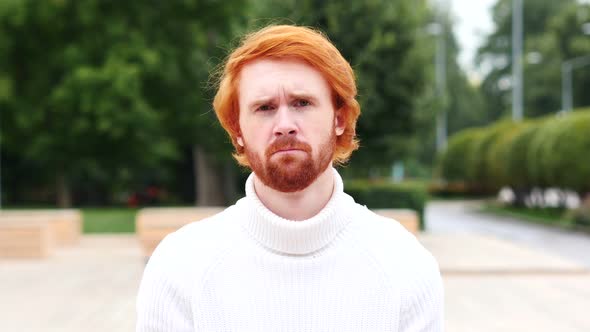
[[[193,165],[196,205],[225,205],[219,169],[214,167],[205,150],[198,145],[193,146]]]

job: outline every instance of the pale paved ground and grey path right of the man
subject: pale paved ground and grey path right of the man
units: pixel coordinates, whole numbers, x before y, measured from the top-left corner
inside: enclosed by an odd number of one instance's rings
[[[590,331],[590,236],[476,210],[426,211],[420,239],[443,273],[446,331]]]

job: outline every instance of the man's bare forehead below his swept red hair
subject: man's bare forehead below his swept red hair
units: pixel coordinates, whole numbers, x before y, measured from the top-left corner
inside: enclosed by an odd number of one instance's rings
[[[298,59],[259,59],[246,64],[239,78],[240,99],[270,96],[280,92],[330,95],[321,72]]]

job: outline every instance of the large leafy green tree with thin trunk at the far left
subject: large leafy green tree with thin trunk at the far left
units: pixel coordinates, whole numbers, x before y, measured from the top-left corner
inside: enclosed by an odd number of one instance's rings
[[[21,1],[0,14],[3,143],[55,176],[60,206],[71,204],[72,175],[145,165],[168,149],[142,98],[153,53],[120,25],[98,24],[98,7]]]

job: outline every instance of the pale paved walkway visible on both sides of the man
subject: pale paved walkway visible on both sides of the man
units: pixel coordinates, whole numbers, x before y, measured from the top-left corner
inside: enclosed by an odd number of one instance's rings
[[[531,225],[472,207],[429,205],[419,236],[443,273],[446,331],[590,331],[586,261],[531,240],[560,233],[533,236]],[[589,236],[555,236],[590,248]],[[143,267],[133,235],[84,236],[45,260],[0,260],[0,331],[133,331]]]

